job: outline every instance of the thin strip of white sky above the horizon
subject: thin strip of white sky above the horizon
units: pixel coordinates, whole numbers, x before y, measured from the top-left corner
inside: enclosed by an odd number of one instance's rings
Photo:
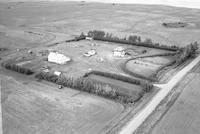
[[[200,0],[0,0],[0,1],[87,1],[104,3],[158,4],[177,7],[199,8]]]

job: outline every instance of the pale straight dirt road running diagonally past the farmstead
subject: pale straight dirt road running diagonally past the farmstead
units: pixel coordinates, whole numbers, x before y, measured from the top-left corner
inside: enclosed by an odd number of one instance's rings
[[[167,94],[175,87],[175,85],[200,61],[200,56],[195,58],[190,64],[178,72],[167,84],[155,85],[162,87],[155,97],[143,108],[133,119],[122,128],[120,134],[132,134],[154,111],[159,103],[167,96]]]

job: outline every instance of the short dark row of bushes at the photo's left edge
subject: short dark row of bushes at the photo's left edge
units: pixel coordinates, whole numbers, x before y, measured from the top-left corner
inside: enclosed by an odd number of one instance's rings
[[[31,75],[31,74],[34,73],[32,70],[30,70],[28,68],[24,68],[24,67],[18,66],[16,64],[11,64],[11,63],[8,63],[8,62],[2,63],[1,65],[8,70],[16,71],[16,72],[26,74],[26,75]]]

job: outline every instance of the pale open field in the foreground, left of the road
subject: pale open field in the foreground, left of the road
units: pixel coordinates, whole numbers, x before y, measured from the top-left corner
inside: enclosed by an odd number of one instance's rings
[[[121,104],[76,90],[1,78],[6,134],[99,133],[124,109]]]

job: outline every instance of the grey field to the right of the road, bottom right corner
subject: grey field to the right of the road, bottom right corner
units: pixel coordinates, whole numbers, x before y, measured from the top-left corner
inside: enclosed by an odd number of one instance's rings
[[[179,98],[172,105],[169,111],[167,111],[164,117],[155,126],[152,134],[200,133],[198,129],[200,127],[199,66],[195,69],[195,71],[190,73],[190,75],[193,75],[193,78],[183,88]],[[184,83],[184,81],[186,81],[186,79],[182,82]]]

